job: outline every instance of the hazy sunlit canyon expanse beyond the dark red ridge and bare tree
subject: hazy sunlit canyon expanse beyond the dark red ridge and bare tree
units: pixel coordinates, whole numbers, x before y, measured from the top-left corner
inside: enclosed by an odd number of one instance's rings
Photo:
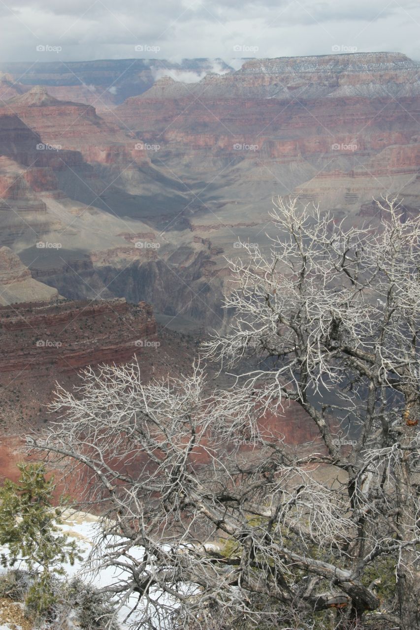
[[[420,64],[405,55],[26,66],[0,67],[0,246],[68,299],[223,329],[226,258],[269,247],[272,197],[353,224],[375,224],[385,193],[419,207]]]

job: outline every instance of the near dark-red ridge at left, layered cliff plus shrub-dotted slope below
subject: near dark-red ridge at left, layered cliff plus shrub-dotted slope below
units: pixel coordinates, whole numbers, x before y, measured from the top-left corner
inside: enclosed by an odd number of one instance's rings
[[[156,324],[148,304],[110,301],[31,302],[0,307],[0,426],[24,435],[48,421],[44,405],[56,383],[72,389],[87,365],[130,362],[144,379],[187,372],[194,342]]]

